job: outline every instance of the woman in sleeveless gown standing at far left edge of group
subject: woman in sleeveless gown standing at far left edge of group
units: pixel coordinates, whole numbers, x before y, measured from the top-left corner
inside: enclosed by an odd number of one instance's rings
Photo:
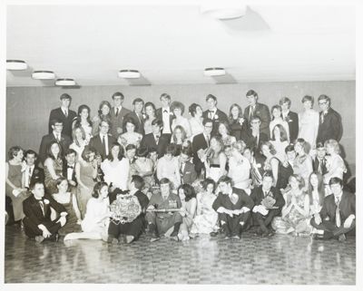
[[[28,197],[22,186],[22,161],[24,150],[18,146],[10,148],[9,160],[5,163],[5,195],[12,200],[14,220],[20,221],[25,217],[23,201]]]

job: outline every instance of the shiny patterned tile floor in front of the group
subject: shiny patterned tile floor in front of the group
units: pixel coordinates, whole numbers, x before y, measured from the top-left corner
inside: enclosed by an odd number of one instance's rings
[[[354,240],[202,236],[132,245],[74,240],[36,245],[5,228],[5,283],[356,284]]]

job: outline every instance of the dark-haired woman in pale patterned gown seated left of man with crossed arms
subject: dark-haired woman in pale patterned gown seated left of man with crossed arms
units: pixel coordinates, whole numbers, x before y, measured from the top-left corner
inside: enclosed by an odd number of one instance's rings
[[[197,213],[191,226],[191,237],[197,234],[210,234],[218,230],[218,213],[212,209],[217,196],[214,194],[216,183],[205,179],[203,190],[197,194]]]

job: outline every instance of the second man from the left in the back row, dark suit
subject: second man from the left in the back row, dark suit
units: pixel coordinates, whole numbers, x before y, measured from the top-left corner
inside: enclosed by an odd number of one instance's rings
[[[113,108],[111,109],[111,129],[110,133],[113,138],[118,139],[119,135],[123,133],[123,118],[131,111],[123,107],[123,93],[113,93]]]

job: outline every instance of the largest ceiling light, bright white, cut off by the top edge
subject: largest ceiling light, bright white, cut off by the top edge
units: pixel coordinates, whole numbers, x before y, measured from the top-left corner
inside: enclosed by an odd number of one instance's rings
[[[201,14],[210,15],[216,19],[233,19],[239,18],[246,14],[246,5],[240,4],[240,1],[226,3],[205,3],[201,5]]]

